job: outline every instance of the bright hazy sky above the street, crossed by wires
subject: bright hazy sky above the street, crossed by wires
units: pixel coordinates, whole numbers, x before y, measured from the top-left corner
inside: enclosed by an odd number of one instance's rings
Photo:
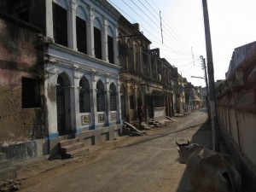
[[[108,0],[160,48],[160,57],[194,85],[205,86],[200,55],[206,54],[201,0]],[[256,0],[207,0],[214,78],[224,79],[236,47],[256,40]],[[163,33],[161,38],[160,16]]]

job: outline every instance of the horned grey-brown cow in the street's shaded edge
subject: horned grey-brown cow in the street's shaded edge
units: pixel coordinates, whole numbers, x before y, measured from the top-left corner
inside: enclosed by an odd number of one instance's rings
[[[219,154],[196,143],[177,143],[179,162],[187,165],[195,192],[241,192],[241,176],[228,154]]]

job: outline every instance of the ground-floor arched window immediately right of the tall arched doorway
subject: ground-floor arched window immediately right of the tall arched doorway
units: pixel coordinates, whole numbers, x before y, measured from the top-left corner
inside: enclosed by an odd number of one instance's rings
[[[90,85],[88,80],[82,78],[79,87],[79,111],[80,113],[90,113]]]

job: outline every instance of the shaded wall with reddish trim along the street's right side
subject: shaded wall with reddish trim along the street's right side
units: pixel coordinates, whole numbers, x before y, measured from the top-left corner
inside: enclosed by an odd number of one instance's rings
[[[253,94],[253,90],[251,93]],[[246,95],[247,94],[248,93],[246,93]],[[237,110],[241,101],[238,98],[238,102],[232,103],[232,100],[235,99],[233,96],[236,97],[237,95],[234,93],[232,96],[223,97],[223,102],[218,101],[218,119],[229,132],[230,137],[232,137],[236,145],[241,148],[242,153],[246,154],[256,165],[256,154],[253,150],[256,145],[256,140],[254,138],[256,135],[256,113],[252,113],[246,109]],[[242,98],[243,96],[241,94],[240,99]],[[247,100],[248,99],[249,97],[247,97]],[[223,103],[228,104],[224,105]]]

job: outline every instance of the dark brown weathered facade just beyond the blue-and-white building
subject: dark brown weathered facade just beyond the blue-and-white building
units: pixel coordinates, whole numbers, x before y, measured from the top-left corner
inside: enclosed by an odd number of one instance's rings
[[[150,49],[138,24],[119,20],[119,64],[122,119],[137,125],[166,119],[173,113],[172,66]]]

